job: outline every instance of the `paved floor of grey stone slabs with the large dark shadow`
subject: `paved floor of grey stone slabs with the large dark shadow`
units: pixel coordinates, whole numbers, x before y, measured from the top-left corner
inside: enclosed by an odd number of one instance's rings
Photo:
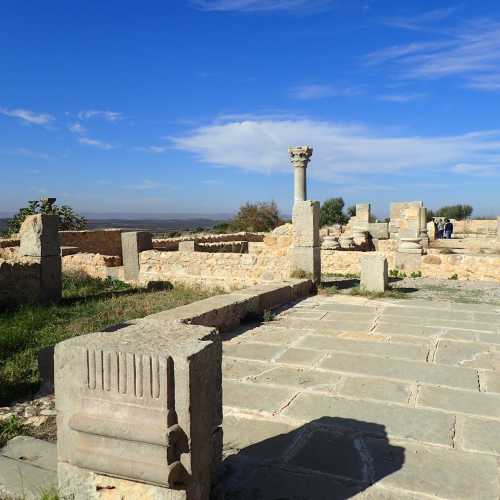
[[[500,307],[316,296],[224,338],[226,499],[500,498]]]

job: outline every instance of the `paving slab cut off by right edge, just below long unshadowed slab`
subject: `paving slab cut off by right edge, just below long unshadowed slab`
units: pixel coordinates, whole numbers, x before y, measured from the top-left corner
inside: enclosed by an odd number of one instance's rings
[[[500,419],[500,394],[423,386],[418,394],[417,405],[451,413],[467,413]]]

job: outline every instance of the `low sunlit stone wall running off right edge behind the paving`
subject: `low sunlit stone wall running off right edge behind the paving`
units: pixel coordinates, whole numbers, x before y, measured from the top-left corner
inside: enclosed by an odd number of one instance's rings
[[[422,257],[422,275],[429,278],[500,281],[500,255],[429,254]]]

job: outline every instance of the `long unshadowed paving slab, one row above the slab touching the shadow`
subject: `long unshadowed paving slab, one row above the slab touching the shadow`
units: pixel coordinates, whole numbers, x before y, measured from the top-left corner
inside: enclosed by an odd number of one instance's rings
[[[320,368],[343,373],[358,373],[407,381],[447,385],[461,389],[477,390],[475,370],[455,366],[435,365],[419,361],[384,359],[377,356],[336,352],[319,363]]]

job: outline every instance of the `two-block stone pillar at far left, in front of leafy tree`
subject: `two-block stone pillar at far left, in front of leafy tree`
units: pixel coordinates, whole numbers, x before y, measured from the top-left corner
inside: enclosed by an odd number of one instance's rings
[[[38,301],[58,302],[62,292],[59,217],[37,214],[26,217],[19,230],[19,255],[35,259],[40,264]]]

